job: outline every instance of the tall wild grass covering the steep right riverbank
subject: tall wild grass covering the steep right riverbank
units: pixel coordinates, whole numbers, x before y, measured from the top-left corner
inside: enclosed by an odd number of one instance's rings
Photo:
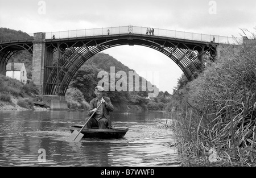
[[[221,59],[186,86],[172,125],[185,158],[200,156],[205,165],[214,148],[218,165],[255,165],[255,47],[255,40],[222,47]]]

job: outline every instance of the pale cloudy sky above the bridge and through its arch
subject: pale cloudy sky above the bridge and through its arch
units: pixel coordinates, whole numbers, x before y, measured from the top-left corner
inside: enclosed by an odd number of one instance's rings
[[[0,27],[33,34],[131,24],[241,37],[240,28],[255,32],[255,9],[255,0],[0,0]],[[163,92],[172,94],[182,74],[174,61],[151,48],[122,45],[102,52],[152,78]]]

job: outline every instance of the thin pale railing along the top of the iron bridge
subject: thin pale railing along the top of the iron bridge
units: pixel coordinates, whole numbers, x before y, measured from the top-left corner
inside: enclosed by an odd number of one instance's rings
[[[197,34],[193,32],[176,31],[176,30],[168,30],[168,29],[161,29],[161,28],[154,28],[154,30],[155,30],[154,36],[164,36],[168,38],[194,40],[194,41],[208,42],[208,43],[210,43],[214,37],[215,43],[236,44],[237,41],[242,43],[242,38],[234,39],[229,36]],[[133,34],[146,35],[147,27],[120,26],[120,27],[108,27],[108,28],[90,28],[90,29],[72,30],[72,31],[47,32],[46,39],[52,39],[53,35],[55,36],[55,39],[78,38],[82,36],[108,35],[108,31],[109,31],[109,35],[127,34],[129,32]]]

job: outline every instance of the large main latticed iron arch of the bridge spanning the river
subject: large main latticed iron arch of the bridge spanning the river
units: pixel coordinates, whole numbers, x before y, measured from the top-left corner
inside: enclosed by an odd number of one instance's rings
[[[57,51],[58,61],[55,65],[46,65],[43,94],[65,96],[72,77],[82,64],[93,55],[119,45],[142,45],[162,52],[180,67],[189,80],[193,80],[202,69],[201,60],[205,52],[213,57],[216,55],[216,46],[213,45],[184,43],[183,41],[131,33],[122,36],[107,36],[104,39],[49,43],[46,47],[47,51]],[[50,63],[52,64],[52,62]]]

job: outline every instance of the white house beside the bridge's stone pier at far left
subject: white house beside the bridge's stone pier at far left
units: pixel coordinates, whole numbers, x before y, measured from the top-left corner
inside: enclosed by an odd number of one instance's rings
[[[27,83],[27,71],[24,63],[8,63],[6,65],[6,76],[15,78],[23,84]]]

